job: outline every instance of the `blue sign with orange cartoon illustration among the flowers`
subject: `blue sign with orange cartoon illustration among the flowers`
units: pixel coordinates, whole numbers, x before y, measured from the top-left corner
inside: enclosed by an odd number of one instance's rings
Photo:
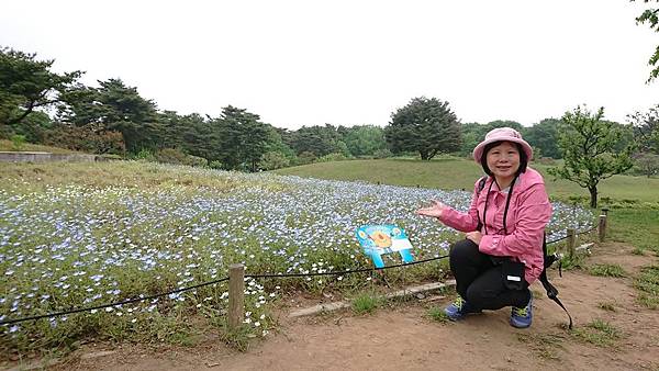
[[[362,225],[356,231],[364,254],[370,255],[378,268],[384,267],[383,254],[398,251],[404,262],[412,262],[412,244],[403,228],[393,224]]]

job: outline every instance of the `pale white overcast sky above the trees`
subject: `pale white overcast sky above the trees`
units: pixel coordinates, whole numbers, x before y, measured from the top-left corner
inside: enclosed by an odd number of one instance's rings
[[[659,34],[627,0],[3,1],[0,45],[82,82],[121,78],[160,110],[228,104],[278,127],[383,126],[413,97],[461,122],[529,126],[585,103],[659,103]]]

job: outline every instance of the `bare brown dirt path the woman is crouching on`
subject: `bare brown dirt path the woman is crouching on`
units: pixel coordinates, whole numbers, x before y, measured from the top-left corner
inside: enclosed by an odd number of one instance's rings
[[[621,265],[635,276],[654,256],[630,254],[632,248],[605,244],[588,263]],[[87,348],[56,369],[66,370],[436,370],[436,369],[569,369],[658,370],[659,313],[635,303],[630,278],[600,278],[569,271],[555,278],[560,297],[577,328],[593,319],[621,331],[611,346],[599,347],[569,334],[567,316],[537,284],[532,328],[512,328],[510,311],[473,315],[460,323],[429,319],[431,306],[448,300],[412,301],[382,308],[375,315],[344,311],[330,315],[282,321],[278,334],[247,352],[227,349],[216,339],[194,348],[145,349],[126,346],[98,353]],[[613,306],[615,311],[601,308]],[[97,352],[94,355],[94,352]],[[91,357],[90,356],[99,356]]]

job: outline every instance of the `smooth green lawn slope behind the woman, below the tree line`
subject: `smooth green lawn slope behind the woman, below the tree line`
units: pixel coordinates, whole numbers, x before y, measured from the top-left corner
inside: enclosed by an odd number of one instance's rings
[[[588,203],[589,193],[577,183],[554,180],[547,175],[551,166],[532,164],[547,183],[547,192],[557,200]],[[482,169],[472,160],[439,157],[431,161],[415,159],[375,159],[320,162],[276,170],[277,173],[335,180],[364,180],[382,184],[472,190]],[[659,179],[614,176],[599,187],[602,204],[617,207],[659,207]]]

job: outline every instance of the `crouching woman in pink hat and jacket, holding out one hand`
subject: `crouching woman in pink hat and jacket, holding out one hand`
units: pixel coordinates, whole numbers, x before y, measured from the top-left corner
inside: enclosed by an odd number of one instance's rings
[[[527,167],[532,157],[533,149],[517,131],[492,130],[473,149],[473,159],[488,177],[477,181],[469,211],[438,201],[416,211],[466,232],[467,238],[449,254],[458,297],[444,312],[453,321],[512,306],[512,326],[532,324],[528,285],[543,272],[543,238],[551,217],[543,177]]]

